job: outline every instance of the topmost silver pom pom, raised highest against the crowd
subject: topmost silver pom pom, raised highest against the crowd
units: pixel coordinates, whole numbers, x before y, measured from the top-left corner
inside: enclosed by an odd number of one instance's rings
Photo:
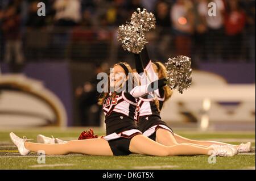
[[[155,28],[155,15],[152,12],[147,12],[146,9],[141,11],[140,8],[137,11],[131,15],[131,24],[139,24],[143,32]]]

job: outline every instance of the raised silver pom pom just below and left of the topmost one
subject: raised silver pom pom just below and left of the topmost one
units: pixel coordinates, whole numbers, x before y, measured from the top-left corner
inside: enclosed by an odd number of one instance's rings
[[[118,41],[121,41],[122,47],[132,53],[141,53],[148,42],[138,24],[126,23],[118,27]]]

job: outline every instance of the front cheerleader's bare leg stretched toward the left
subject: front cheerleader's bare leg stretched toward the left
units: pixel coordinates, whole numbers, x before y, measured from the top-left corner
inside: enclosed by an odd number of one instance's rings
[[[108,141],[104,139],[72,140],[65,144],[36,144],[25,142],[26,149],[30,151],[44,150],[46,155],[65,155],[81,153],[88,155],[113,155]]]

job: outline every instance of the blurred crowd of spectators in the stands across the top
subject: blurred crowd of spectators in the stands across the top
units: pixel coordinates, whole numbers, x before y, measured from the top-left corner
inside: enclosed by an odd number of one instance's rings
[[[38,16],[39,2],[45,3],[46,16]],[[208,15],[210,2],[216,16]],[[254,0],[1,0],[0,58],[18,63],[127,60],[116,46],[116,31],[137,7],[156,16],[156,30],[147,35],[152,58],[255,60]]]

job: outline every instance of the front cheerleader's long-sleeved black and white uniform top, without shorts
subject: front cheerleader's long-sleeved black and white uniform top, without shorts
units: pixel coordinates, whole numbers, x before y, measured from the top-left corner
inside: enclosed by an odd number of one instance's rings
[[[166,85],[166,79],[159,79],[157,82],[161,87]],[[134,121],[137,99],[154,91],[154,87],[152,88],[154,83],[156,81],[148,85],[136,86],[130,92],[109,93],[102,106],[105,114],[106,136],[104,138],[106,140],[113,140],[114,137],[117,137],[117,134],[120,135],[125,131],[138,129]],[[110,134],[112,136],[109,136]]]

